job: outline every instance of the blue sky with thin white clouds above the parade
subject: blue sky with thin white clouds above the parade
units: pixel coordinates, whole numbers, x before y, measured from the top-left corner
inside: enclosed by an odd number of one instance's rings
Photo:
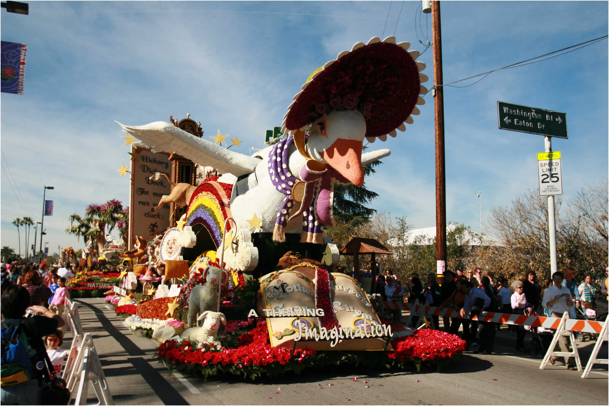
[[[44,185],[55,187],[47,194],[54,215],[44,219],[51,252],[83,246],[64,231],[72,213],[111,198],[128,202],[128,180],[116,169],[128,165],[129,155],[114,120],[143,125],[191,113],[205,138],[220,129],[244,141],[237,150],[248,153],[263,146],[267,129],[281,125],[309,74],[339,52],[394,32],[420,52],[431,41],[431,16],[417,11],[420,1],[29,5],[27,16],[0,13],[2,40],[27,44],[23,96],[0,96],[0,243],[15,250],[11,222],[26,215],[40,221]],[[445,83],[608,32],[604,1],[441,7]],[[563,155],[564,198],[607,177],[607,50],[603,40],[466,88],[445,88],[449,221],[479,231],[478,191],[485,221],[493,207],[537,189],[543,136],[499,130],[498,100],[566,112],[569,139],[552,140]],[[424,85],[431,88],[432,49],[418,60],[428,65]],[[434,104],[431,94],[425,100],[406,132],[370,145],[392,155],[366,179],[381,195],[373,208],[405,215],[417,228],[435,225]]]

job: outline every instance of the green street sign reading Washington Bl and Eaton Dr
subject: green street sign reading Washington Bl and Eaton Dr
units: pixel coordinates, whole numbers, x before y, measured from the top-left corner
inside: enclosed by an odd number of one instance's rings
[[[560,111],[497,102],[497,117],[500,130],[569,138],[567,114]]]

